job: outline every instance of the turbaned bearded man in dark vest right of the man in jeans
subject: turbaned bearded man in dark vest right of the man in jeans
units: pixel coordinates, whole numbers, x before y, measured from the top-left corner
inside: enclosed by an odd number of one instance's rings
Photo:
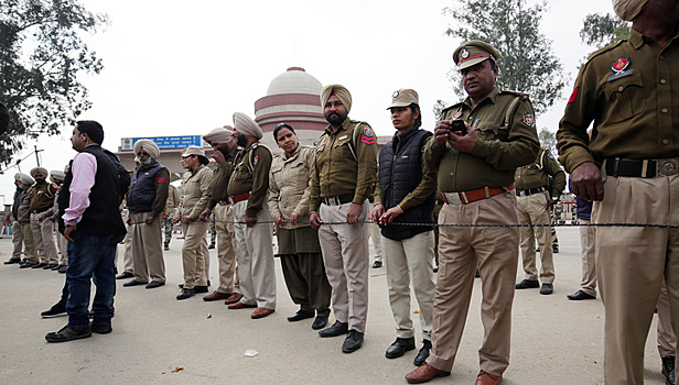
[[[153,141],[139,140],[133,150],[140,166],[132,175],[127,196],[130,212],[127,221],[128,231],[132,232],[134,278],[122,286],[146,285],[151,289],[165,285],[161,221],[168,200],[170,172],[157,161],[160,148]]]

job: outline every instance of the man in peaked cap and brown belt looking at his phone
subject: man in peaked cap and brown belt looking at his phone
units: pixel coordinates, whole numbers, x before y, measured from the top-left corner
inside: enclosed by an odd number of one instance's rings
[[[499,53],[487,43],[463,43],[453,54],[467,98],[444,109],[434,141],[424,150],[439,170],[445,204],[440,227],[439,276],[434,296],[431,355],[406,375],[423,383],[449,375],[455,361],[478,266],[484,324],[476,385],[499,384],[509,365],[511,304],[518,264],[514,173],[539,150],[528,96],[495,86]],[[492,227],[486,227],[492,226]]]

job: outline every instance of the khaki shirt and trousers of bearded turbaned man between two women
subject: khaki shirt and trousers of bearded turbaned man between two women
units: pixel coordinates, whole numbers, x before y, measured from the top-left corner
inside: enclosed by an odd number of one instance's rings
[[[310,209],[319,211],[323,222],[346,222],[352,204],[363,206],[358,220],[367,220],[368,197],[377,179],[376,142],[367,123],[348,118],[337,132],[328,125],[321,135],[311,176]],[[360,223],[323,224],[319,241],[333,287],[335,319],[363,333],[368,316],[367,228]]]

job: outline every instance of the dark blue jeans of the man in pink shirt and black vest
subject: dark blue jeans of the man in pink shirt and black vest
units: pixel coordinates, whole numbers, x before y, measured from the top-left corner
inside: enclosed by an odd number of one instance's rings
[[[114,296],[116,295],[116,273],[114,260],[120,234],[89,235],[77,231],[75,242],[68,242],[68,299],[66,312],[68,327],[89,326],[90,279],[97,286],[93,302],[95,324],[110,324],[114,317]],[[94,278],[93,278],[94,276]]]

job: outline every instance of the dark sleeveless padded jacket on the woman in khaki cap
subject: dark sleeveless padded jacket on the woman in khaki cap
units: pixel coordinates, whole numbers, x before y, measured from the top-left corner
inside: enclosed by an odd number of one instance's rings
[[[381,201],[388,210],[397,206],[422,180],[422,145],[432,133],[424,130],[408,130],[395,134],[379,153],[379,185]],[[397,141],[400,141],[395,154]],[[433,230],[432,226],[402,226],[400,223],[433,223],[434,194],[419,206],[406,210],[388,226],[380,226],[381,234],[400,241]]]

